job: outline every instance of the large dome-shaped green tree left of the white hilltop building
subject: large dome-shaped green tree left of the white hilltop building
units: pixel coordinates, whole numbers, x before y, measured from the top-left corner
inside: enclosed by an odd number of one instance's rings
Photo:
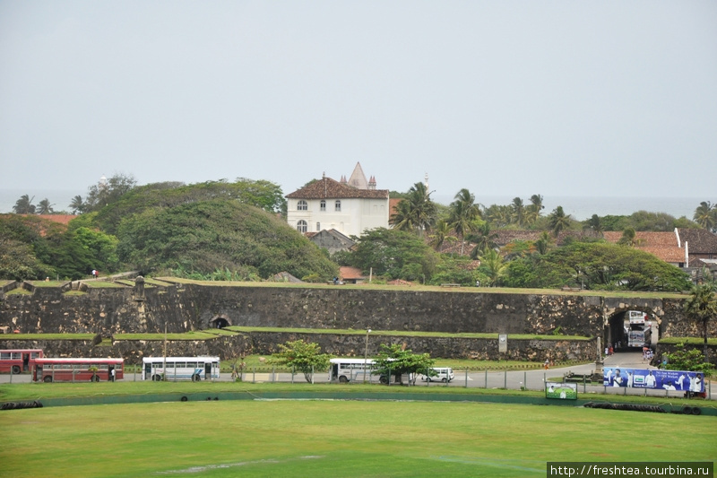
[[[226,199],[153,207],[125,218],[120,260],[148,273],[238,269],[260,277],[288,272],[328,279],[338,269],[319,248],[277,217]]]

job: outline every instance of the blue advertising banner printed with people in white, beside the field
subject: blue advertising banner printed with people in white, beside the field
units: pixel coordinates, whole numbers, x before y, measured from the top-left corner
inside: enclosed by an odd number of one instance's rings
[[[657,388],[704,393],[702,372],[604,367],[602,374],[605,387]]]

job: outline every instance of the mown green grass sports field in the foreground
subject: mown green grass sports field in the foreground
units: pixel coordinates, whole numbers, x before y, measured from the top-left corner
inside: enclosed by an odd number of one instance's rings
[[[545,476],[714,461],[717,418],[566,406],[204,401],[0,412],[0,476]]]

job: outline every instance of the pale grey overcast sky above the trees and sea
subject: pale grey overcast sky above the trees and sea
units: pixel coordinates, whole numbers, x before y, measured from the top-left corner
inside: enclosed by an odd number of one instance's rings
[[[289,194],[358,161],[439,196],[714,201],[717,2],[0,0],[2,189]]]

